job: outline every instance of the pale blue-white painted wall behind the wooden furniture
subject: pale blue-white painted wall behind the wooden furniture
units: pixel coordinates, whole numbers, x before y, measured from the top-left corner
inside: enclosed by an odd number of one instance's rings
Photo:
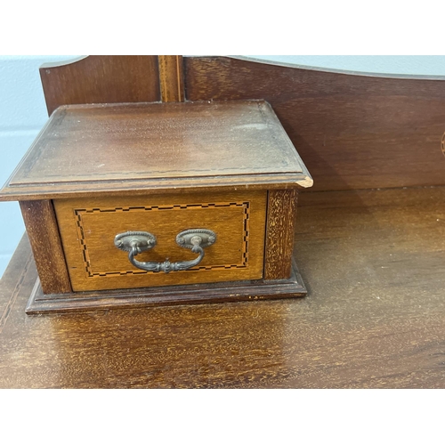
[[[12,174],[47,119],[38,67],[76,56],[0,56],[0,182]],[[251,56],[329,69],[445,76],[445,56]],[[0,276],[23,234],[16,202],[0,203]]]

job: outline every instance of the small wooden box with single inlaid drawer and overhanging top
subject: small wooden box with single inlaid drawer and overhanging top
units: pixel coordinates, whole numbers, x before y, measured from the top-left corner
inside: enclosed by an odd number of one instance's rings
[[[20,201],[34,313],[304,295],[293,234],[311,185],[265,101],[68,105],[0,198]]]

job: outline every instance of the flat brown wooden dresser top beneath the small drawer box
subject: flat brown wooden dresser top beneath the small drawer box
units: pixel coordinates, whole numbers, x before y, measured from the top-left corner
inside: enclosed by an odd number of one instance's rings
[[[299,201],[302,299],[29,317],[24,239],[0,282],[0,387],[444,388],[445,189]]]

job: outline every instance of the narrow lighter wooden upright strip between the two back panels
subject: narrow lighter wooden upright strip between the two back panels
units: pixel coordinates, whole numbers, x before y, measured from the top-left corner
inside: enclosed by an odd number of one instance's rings
[[[161,100],[163,102],[184,101],[184,81],[182,56],[160,55],[159,82],[161,86]]]

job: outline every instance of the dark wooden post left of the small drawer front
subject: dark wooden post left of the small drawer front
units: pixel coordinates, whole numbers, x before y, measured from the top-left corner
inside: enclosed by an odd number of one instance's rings
[[[44,294],[71,292],[52,201],[21,201],[20,209]]]

